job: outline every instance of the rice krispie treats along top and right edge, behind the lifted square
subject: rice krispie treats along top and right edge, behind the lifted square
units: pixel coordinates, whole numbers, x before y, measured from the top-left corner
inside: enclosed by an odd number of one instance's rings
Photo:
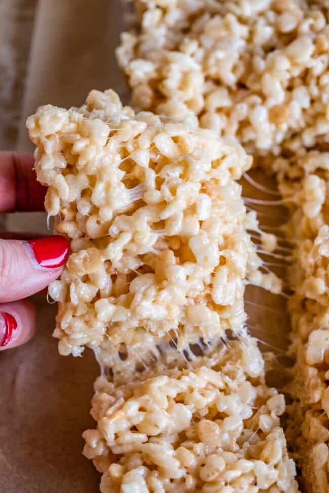
[[[236,139],[275,172],[290,210],[287,437],[305,491],[328,489],[329,4],[137,0],[117,58],[133,104]],[[328,400],[329,402],[329,400]]]

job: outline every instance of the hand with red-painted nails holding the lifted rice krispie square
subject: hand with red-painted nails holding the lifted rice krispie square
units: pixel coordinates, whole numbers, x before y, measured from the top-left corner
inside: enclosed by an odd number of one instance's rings
[[[29,154],[0,152],[0,213],[44,209],[45,188],[36,182],[33,163]],[[0,239],[0,350],[32,337],[35,309],[23,298],[58,278],[68,252],[61,236]]]

